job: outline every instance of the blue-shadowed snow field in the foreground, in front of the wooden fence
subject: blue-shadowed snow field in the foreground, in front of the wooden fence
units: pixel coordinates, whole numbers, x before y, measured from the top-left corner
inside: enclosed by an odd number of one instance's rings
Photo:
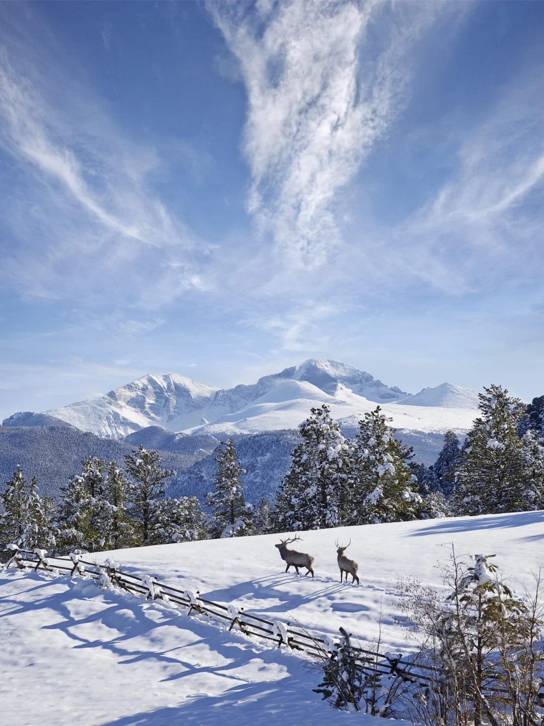
[[[337,726],[292,653],[83,578],[0,576],[6,726]]]

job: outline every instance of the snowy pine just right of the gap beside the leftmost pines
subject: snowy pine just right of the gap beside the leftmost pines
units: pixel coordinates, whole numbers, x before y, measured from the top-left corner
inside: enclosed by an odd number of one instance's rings
[[[91,550],[94,531],[91,529],[91,516],[94,500],[85,486],[82,476],[70,476],[66,486],[60,488],[60,503],[56,526],[58,530],[57,548],[61,555],[75,550]]]

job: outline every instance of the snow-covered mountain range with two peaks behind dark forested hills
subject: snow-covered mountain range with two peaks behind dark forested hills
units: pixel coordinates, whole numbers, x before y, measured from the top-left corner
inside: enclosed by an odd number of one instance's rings
[[[465,393],[456,396],[456,391]],[[397,412],[393,425],[413,425],[418,431],[466,431],[470,427],[474,407],[469,391],[450,386],[434,399],[429,395],[425,399],[424,393],[418,394],[419,404],[410,413],[410,402],[416,397],[400,388],[389,388],[369,373],[338,361],[309,359],[299,367],[263,376],[250,386],[226,391],[176,374],[145,375],[106,396],[46,414],[113,439],[149,425],[212,436],[297,428],[311,407],[323,403],[331,406],[335,417],[356,418],[379,402],[388,415]],[[461,406],[463,402],[466,407]],[[402,412],[394,408],[396,404],[402,406]],[[424,408],[429,410],[424,413]]]

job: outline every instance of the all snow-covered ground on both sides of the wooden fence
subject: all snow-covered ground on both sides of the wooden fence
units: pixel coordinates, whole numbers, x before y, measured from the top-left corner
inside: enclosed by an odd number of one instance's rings
[[[350,537],[359,587],[339,582],[334,541]],[[370,638],[383,611],[383,648],[405,651],[404,629],[392,618],[398,576],[440,584],[435,565],[448,555],[440,545],[453,542],[460,554],[496,553],[521,590],[544,562],[543,541],[544,512],[305,532],[297,548],[315,557],[315,579],[284,573],[278,535],[113,556],[125,570],[316,633],[333,635],[343,625]],[[382,723],[332,711],[312,692],[316,675],[292,653],[81,579],[1,573],[0,634],[9,726]]]

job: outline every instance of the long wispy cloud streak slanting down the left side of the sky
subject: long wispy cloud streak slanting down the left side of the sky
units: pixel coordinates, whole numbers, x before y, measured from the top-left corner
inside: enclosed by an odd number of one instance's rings
[[[157,152],[123,138],[73,81],[73,104],[56,107],[38,69],[25,76],[12,55],[0,46],[0,145],[26,187],[5,212],[17,243],[4,248],[4,282],[81,300],[106,289],[110,302],[147,307],[206,287],[207,245],[149,184],[161,172]]]

